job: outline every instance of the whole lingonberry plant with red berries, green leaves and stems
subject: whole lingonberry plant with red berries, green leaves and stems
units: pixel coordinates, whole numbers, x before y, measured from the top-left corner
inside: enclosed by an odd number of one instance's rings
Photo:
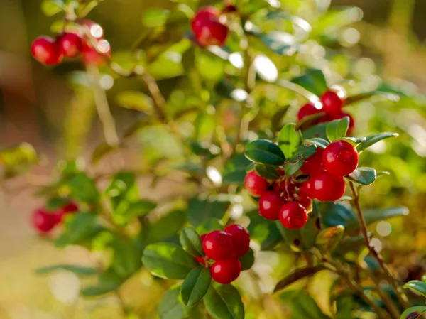
[[[355,131],[359,120],[346,112],[398,95],[385,85],[360,90],[362,83],[337,75],[326,60],[338,50],[327,46],[327,23],[343,28],[361,18],[359,10],[327,13],[315,1],[173,1],[171,11],[143,13],[146,32],[131,50],[111,53],[102,26],[86,18],[98,2],[43,1],[48,16],[62,16],[52,26],[55,38],[31,45],[45,65],[82,60],[85,72],[74,85],[93,91],[105,139],[89,164],[58,163],[52,183],[36,191],[45,207],[33,214],[37,232],[56,247],[87,249],[94,264],[47,266],[40,274],[94,276],[82,296],[114,293],[124,318],[155,316],[122,293],[142,273],[161,283],[161,319],[414,319],[425,312],[408,300],[368,231],[406,208],[363,210],[360,202],[361,191],[387,175],[366,167],[362,152],[398,134]],[[321,58],[318,43],[327,48]],[[141,112],[122,135],[103,75],[141,81],[116,97]],[[123,150],[139,147],[140,167],[124,166]],[[37,156],[21,144],[1,152],[0,162],[13,178]],[[112,170],[102,171],[100,162]],[[158,201],[141,196],[138,178],[146,176],[153,187],[178,180],[177,193]],[[321,271],[329,306],[300,284]]]

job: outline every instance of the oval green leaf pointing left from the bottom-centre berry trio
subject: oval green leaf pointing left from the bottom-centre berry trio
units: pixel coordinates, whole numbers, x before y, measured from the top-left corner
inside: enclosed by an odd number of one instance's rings
[[[148,245],[143,251],[142,262],[158,277],[185,279],[199,264],[181,247],[175,244]]]

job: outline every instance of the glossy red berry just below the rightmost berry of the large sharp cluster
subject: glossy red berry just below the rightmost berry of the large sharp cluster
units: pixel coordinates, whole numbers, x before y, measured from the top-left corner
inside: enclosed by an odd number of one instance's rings
[[[338,200],[346,190],[346,184],[342,176],[324,172],[321,175],[311,178],[312,198],[317,198],[323,202],[333,202]]]

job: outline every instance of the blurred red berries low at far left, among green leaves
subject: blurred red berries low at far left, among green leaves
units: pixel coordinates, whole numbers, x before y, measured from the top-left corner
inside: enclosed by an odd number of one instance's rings
[[[33,227],[37,229],[40,234],[47,234],[53,227],[62,222],[65,215],[75,212],[78,212],[78,206],[74,202],[68,202],[55,212],[48,212],[45,208],[38,208],[33,212]]]

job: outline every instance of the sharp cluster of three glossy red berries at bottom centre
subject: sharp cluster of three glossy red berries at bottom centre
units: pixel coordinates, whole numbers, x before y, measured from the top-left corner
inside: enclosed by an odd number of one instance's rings
[[[250,234],[241,225],[229,225],[223,231],[214,230],[200,236],[205,257],[195,259],[210,267],[212,279],[227,284],[237,279],[241,273],[239,257],[250,249]],[[213,263],[209,261],[212,259]]]

